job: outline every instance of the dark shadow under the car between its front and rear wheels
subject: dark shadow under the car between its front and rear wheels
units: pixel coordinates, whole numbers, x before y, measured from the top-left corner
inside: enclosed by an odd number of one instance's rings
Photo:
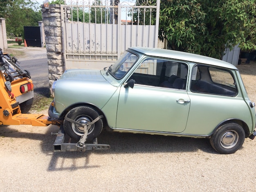
[[[103,131],[98,137],[98,143],[110,145],[110,150],[97,151],[99,153],[183,153],[198,150],[215,153],[209,139],[200,138]]]

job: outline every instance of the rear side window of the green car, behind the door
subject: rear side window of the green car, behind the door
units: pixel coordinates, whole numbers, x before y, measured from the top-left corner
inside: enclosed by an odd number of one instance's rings
[[[236,96],[238,93],[231,71],[205,65],[193,67],[191,91],[222,96]]]

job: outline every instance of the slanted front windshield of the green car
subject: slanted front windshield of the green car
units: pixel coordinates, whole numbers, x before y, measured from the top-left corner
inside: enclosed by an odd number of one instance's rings
[[[117,79],[121,79],[125,76],[125,74],[130,70],[132,65],[136,62],[138,56],[132,54],[128,51],[124,52],[124,54],[108,68],[109,73]]]

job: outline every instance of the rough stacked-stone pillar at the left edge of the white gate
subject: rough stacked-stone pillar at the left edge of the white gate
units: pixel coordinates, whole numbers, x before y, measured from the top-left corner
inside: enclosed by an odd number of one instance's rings
[[[49,9],[42,6],[45,28],[45,46],[48,59],[49,86],[65,71],[63,40],[61,31],[61,5],[50,4]]]

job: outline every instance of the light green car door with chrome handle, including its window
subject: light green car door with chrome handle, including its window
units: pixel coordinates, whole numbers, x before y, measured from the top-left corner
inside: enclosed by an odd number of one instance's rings
[[[186,128],[190,100],[184,78],[187,76],[188,67],[184,63],[179,64],[186,68],[186,72],[182,74],[182,67],[177,67],[177,62],[171,62],[172,67],[169,69],[163,63],[166,61],[152,58],[144,60],[130,77],[130,79],[134,77],[136,79],[134,87],[121,86],[117,108],[117,128],[175,133],[180,133]],[[151,69],[145,70],[146,68]],[[182,87],[161,87],[163,83],[160,82],[160,79],[163,79],[161,75],[167,74],[179,76],[179,80],[184,83]],[[152,82],[146,77],[147,75],[155,76]],[[153,86],[157,77],[159,86]],[[153,85],[150,85],[151,83]],[[177,85],[180,86],[179,83]]]

